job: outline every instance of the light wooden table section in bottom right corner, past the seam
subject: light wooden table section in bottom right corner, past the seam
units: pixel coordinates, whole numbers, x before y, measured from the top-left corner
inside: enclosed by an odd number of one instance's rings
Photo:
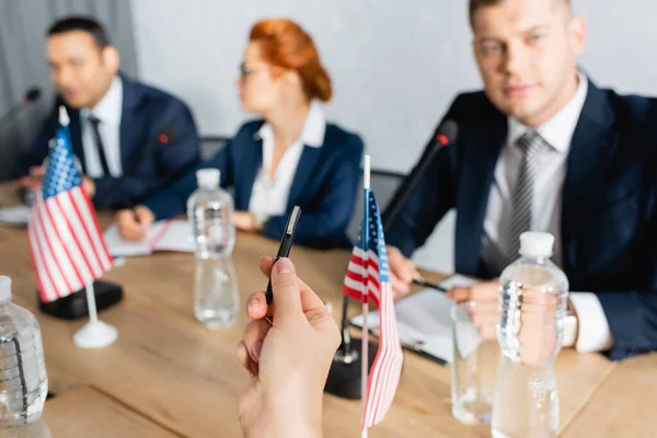
[[[564,438],[657,438],[657,354],[613,365]]]

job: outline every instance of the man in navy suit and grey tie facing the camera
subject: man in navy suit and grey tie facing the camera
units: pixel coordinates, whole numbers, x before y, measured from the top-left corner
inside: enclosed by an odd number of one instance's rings
[[[566,344],[614,359],[657,349],[657,107],[601,90],[577,69],[586,24],[569,0],[470,0],[483,92],[457,97],[460,126],[387,232],[393,286],[458,211],[457,272],[496,278],[519,234],[555,237],[569,281]],[[498,321],[498,279],[450,291],[482,325]]]

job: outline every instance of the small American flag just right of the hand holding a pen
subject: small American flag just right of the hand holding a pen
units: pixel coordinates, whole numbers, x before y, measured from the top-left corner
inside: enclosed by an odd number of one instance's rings
[[[366,215],[343,286],[345,295],[362,302],[371,299],[379,307],[379,350],[369,374],[362,429],[380,423],[388,413],[403,362],[379,206],[371,189],[366,188],[365,199]]]

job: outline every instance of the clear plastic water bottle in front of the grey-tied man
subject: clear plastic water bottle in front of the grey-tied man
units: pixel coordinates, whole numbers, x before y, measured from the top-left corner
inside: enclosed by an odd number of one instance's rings
[[[494,438],[556,437],[554,360],[562,345],[568,280],[550,261],[553,244],[552,234],[523,233],[521,257],[502,273]]]

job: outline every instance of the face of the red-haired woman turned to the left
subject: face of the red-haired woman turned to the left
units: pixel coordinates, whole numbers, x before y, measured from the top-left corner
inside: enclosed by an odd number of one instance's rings
[[[261,56],[258,43],[249,43],[237,80],[242,110],[260,115],[269,113],[290,92],[293,77],[292,71],[266,62]]]

